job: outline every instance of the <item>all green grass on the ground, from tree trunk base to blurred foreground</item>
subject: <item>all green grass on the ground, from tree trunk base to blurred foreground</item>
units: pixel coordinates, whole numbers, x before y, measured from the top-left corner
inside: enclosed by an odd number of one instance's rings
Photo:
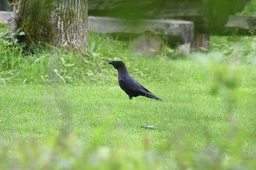
[[[255,36],[213,36],[182,60],[89,42],[86,55],[0,44],[0,169],[255,169]],[[119,59],[163,102],[129,100]]]

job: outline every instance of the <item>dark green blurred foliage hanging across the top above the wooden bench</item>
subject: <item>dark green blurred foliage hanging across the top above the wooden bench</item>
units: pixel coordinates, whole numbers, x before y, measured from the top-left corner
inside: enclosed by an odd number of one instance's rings
[[[244,9],[247,0],[94,0],[89,15],[129,19],[192,20],[200,34],[222,34],[229,15]]]

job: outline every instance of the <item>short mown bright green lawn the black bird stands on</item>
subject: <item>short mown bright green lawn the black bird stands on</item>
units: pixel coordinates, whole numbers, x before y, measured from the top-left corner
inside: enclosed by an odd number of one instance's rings
[[[255,167],[255,66],[142,64],[163,102],[129,100],[111,66],[105,85],[1,85],[2,169]]]

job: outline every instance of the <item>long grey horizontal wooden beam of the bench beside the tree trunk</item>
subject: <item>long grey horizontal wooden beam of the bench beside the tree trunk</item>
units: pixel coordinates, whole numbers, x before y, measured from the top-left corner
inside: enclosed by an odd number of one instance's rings
[[[184,43],[194,36],[194,23],[187,20],[124,20],[118,18],[89,17],[89,30],[103,34],[151,32],[165,36],[181,36]]]

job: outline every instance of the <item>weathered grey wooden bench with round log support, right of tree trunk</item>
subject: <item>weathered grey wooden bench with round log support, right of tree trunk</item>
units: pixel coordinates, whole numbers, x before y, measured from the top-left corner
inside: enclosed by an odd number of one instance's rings
[[[154,56],[161,53],[162,46],[167,42],[175,41],[179,44],[178,49],[187,54],[194,36],[194,23],[187,20],[127,20],[90,16],[89,30],[133,38],[131,48],[135,53]]]

